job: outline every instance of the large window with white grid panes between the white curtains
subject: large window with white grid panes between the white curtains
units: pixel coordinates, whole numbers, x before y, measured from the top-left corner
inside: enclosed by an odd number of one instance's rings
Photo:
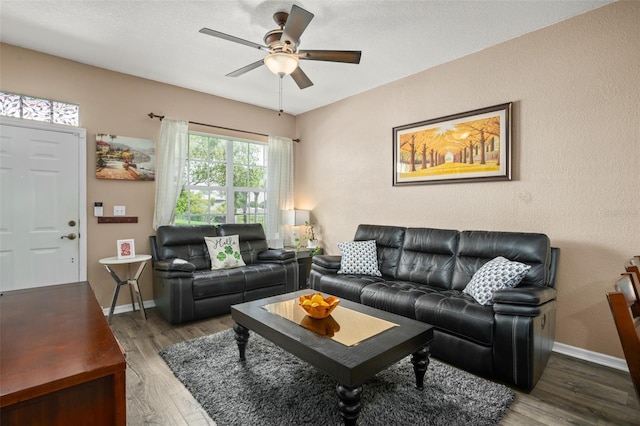
[[[189,133],[176,225],[265,223],[267,145]]]

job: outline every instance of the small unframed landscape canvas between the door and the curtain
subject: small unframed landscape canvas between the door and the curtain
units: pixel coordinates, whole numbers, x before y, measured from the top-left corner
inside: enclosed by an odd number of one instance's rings
[[[98,179],[155,180],[155,144],[150,139],[96,134]]]

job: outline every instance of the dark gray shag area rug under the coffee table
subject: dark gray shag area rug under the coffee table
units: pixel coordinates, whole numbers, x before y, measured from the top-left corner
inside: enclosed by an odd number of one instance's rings
[[[160,351],[218,426],[341,425],[336,381],[250,332],[240,361],[233,330]],[[363,386],[358,425],[495,425],[514,401],[504,385],[431,359],[424,390],[410,358]]]

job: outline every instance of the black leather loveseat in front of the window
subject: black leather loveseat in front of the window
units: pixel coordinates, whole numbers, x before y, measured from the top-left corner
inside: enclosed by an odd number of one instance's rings
[[[204,237],[239,236],[246,266],[211,270]],[[295,253],[268,249],[260,224],[161,226],[149,237],[153,298],[172,324],[227,314],[231,305],[294,291]]]

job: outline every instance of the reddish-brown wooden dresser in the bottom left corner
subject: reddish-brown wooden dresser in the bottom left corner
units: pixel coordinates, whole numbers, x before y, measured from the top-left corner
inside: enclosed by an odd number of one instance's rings
[[[0,296],[0,424],[125,425],[126,362],[89,283]]]

